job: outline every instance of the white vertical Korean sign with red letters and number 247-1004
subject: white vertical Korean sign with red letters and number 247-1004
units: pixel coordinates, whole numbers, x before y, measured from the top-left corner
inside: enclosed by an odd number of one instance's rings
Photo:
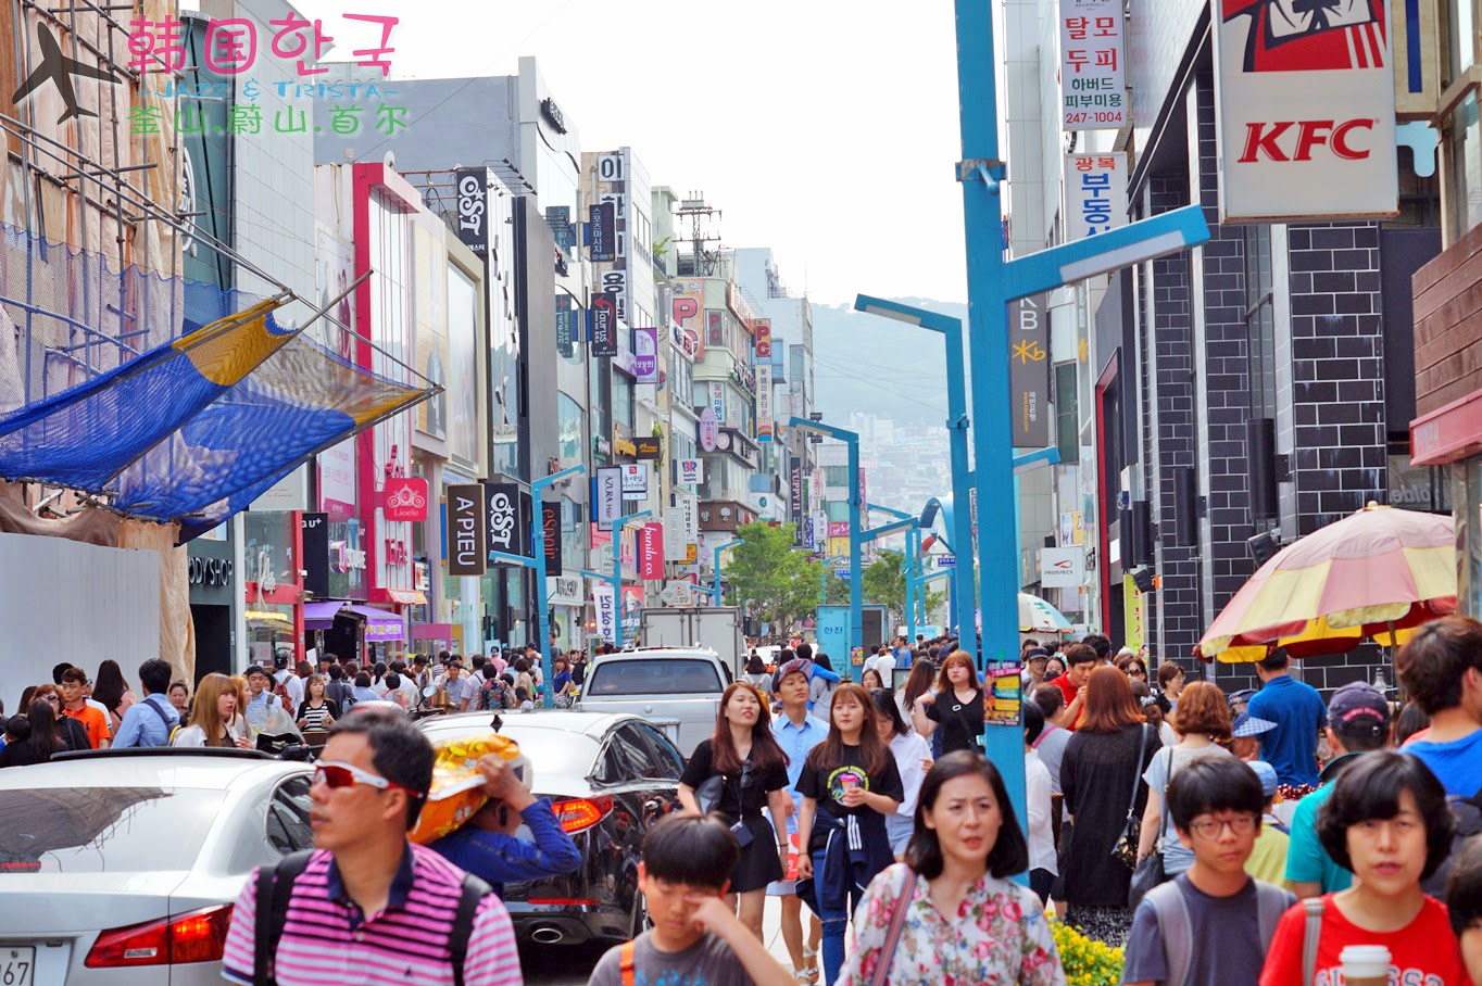
[[[1066,130],[1126,120],[1122,0],[1060,0],[1060,104]]]

